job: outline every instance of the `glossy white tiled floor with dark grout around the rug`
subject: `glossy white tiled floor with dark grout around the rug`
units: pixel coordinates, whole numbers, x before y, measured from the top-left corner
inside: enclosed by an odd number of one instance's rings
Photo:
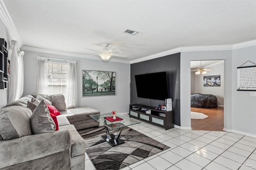
[[[256,139],[220,131],[164,128],[143,122],[130,126],[170,149],[122,170],[256,170]],[[86,154],[85,169],[95,170]]]

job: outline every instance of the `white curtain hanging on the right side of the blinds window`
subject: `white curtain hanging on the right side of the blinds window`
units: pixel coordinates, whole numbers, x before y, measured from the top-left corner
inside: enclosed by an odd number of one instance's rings
[[[76,61],[68,61],[68,98],[67,107],[74,108],[77,98]]]

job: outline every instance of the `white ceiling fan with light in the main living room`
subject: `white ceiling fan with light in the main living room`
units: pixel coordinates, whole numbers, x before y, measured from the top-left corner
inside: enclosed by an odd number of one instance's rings
[[[118,48],[113,48],[113,49],[109,50],[109,49],[107,49],[107,47],[108,47],[107,43],[104,43],[102,45],[103,45],[103,47],[105,47],[105,49],[101,49],[100,51],[96,51],[96,50],[92,50],[92,49],[88,49],[88,50],[98,52],[98,54],[95,54],[95,55],[99,55],[105,61],[110,59],[110,57],[112,57],[112,56],[127,57],[127,55],[124,55],[124,54],[114,53],[116,51],[120,51],[120,49],[118,49]]]

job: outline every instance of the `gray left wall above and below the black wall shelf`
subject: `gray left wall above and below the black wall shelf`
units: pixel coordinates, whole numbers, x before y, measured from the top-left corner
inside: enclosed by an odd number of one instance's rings
[[[10,35],[9,35],[8,30],[6,29],[2,20],[0,20],[0,38],[5,39],[5,41],[7,42],[7,45],[8,45],[7,46],[8,49],[10,49],[10,44],[8,43],[8,41],[10,39]],[[10,74],[12,75],[12,73],[10,73]],[[8,90],[0,89],[0,108],[6,106],[7,102],[8,102]]]

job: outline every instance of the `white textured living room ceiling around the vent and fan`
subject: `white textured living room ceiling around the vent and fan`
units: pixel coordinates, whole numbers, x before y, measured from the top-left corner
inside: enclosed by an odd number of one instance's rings
[[[256,0],[3,0],[23,45],[132,61],[177,47],[256,39]],[[131,29],[136,35],[123,33]],[[96,56],[95,56],[96,57]],[[110,59],[111,61],[111,59]]]

